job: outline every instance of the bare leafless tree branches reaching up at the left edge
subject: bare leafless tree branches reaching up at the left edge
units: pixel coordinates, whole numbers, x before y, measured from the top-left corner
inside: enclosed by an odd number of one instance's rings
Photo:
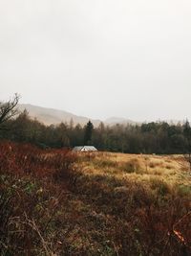
[[[19,95],[15,93],[9,102],[0,102],[0,126],[18,113],[16,105],[19,98]]]

